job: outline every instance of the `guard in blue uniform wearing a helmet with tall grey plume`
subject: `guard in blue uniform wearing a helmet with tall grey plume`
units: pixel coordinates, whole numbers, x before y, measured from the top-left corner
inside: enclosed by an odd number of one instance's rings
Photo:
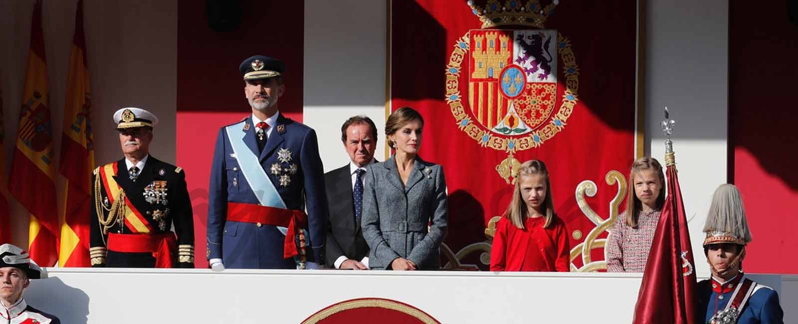
[[[784,323],[776,290],[745,278],[741,271],[751,232],[737,187],[717,188],[704,231],[712,278],[697,285],[697,318],[710,324]]]

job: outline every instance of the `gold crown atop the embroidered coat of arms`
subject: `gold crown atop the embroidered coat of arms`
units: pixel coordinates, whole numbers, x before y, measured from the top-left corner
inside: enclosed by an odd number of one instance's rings
[[[480,18],[482,28],[496,26],[533,26],[543,28],[546,19],[554,14],[554,8],[559,0],[552,0],[543,6],[538,0],[488,0],[484,8],[477,6],[474,0],[468,0],[473,14]]]

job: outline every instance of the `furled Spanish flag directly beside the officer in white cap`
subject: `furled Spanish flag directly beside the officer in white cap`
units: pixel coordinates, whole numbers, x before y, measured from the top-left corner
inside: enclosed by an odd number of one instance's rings
[[[64,132],[61,134],[61,165],[66,178],[65,203],[61,221],[60,267],[91,267],[89,262],[89,215],[91,211],[91,172],[94,166],[92,135],[92,97],[89,65],[86,64],[83,33],[83,0],[77,2],[75,34],[69,54],[66,79]]]

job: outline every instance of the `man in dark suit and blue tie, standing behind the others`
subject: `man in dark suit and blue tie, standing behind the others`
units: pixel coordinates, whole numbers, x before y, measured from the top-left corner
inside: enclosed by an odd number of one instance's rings
[[[350,163],[324,175],[330,216],[327,264],[336,269],[369,269],[369,245],[361,231],[363,180],[366,166],[376,162],[377,127],[365,116],[350,117],[341,127],[341,141]]]

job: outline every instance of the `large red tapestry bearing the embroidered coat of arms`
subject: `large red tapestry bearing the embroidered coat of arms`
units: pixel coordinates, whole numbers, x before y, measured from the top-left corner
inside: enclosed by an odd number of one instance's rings
[[[390,2],[386,113],[417,109],[420,156],[444,166],[445,267],[487,270],[513,175],[537,159],[571,238],[571,270],[606,269],[607,230],[642,152],[637,11],[621,0]]]

